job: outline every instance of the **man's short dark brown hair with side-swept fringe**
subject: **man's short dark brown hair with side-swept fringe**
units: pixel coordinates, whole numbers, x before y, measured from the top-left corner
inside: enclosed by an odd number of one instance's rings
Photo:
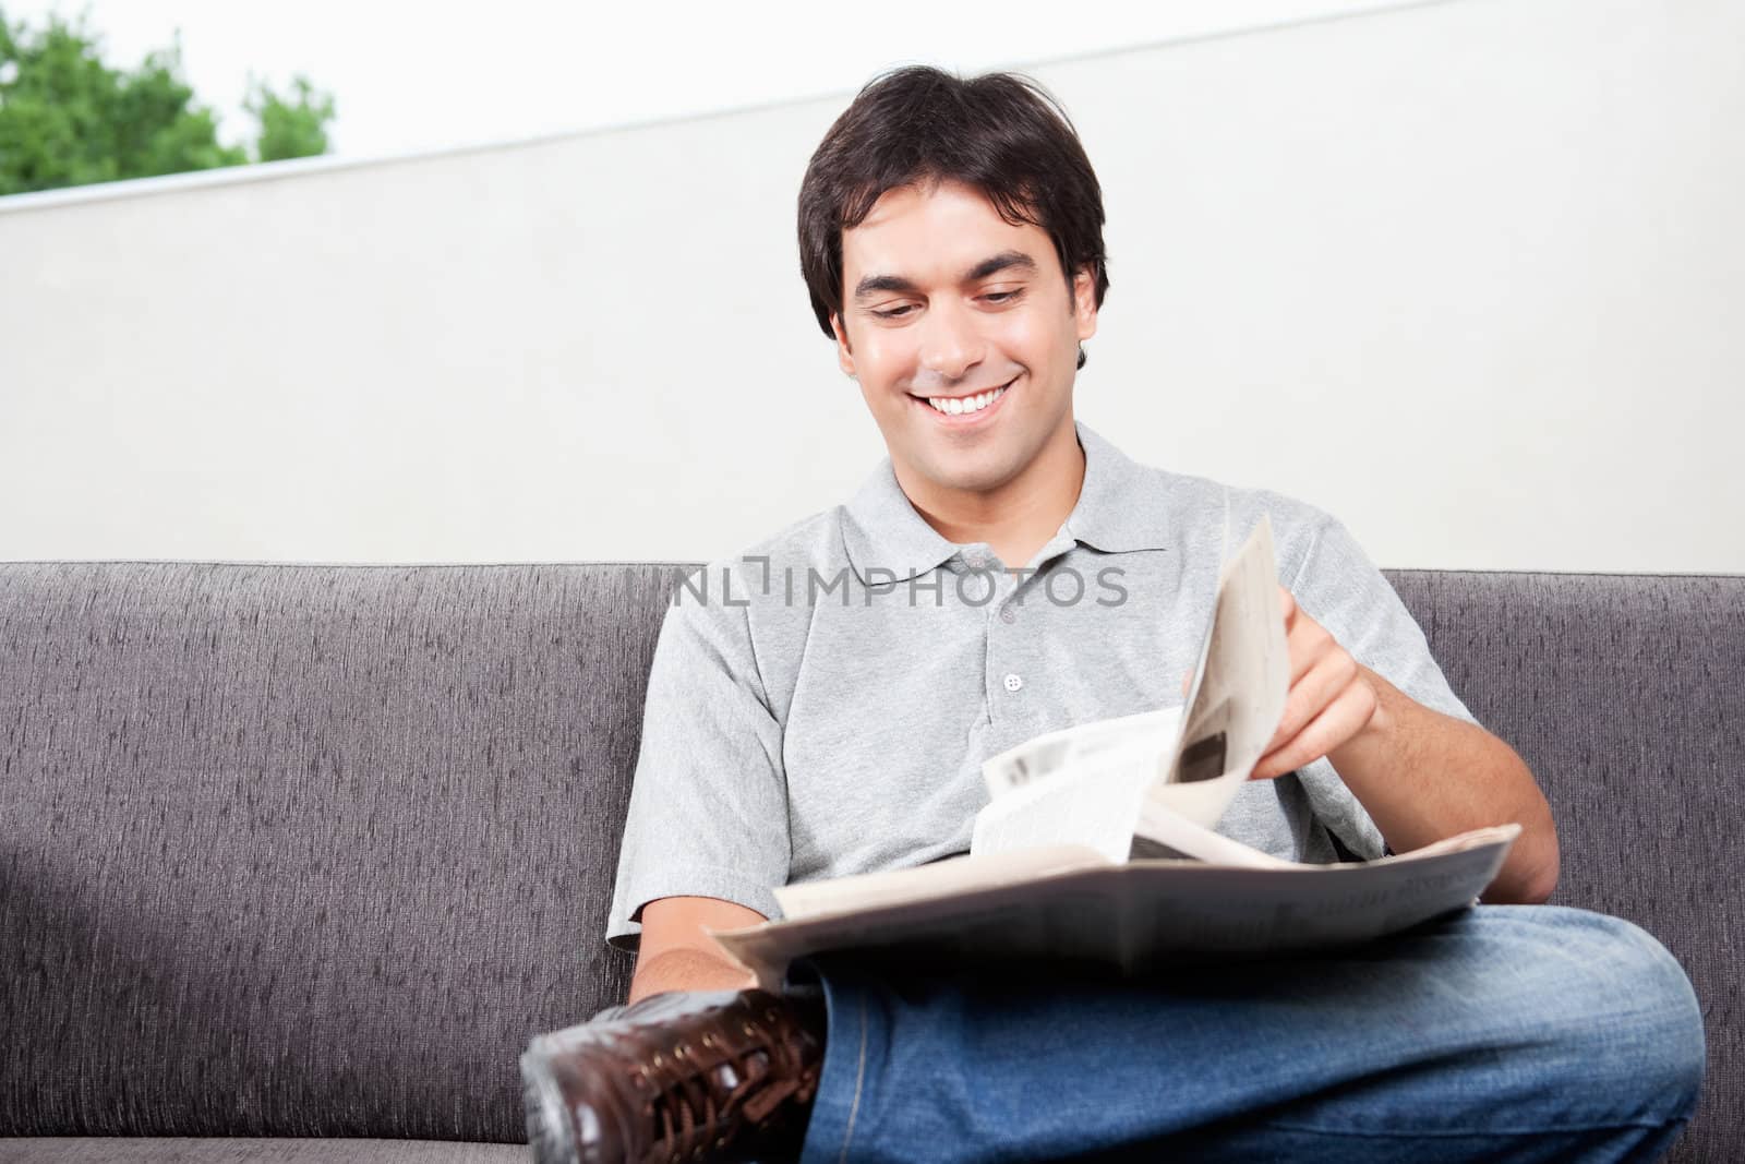
[[[1028,77],[965,80],[911,65],[860,89],[799,183],[799,269],[825,335],[836,337],[831,316],[843,311],[843,230],[866,222],[886,190],[942,180],[975,187],[1014,225],[1045,230],[1068,295],[1089,265],[1103,305],[1103,188],[1066,110]]]

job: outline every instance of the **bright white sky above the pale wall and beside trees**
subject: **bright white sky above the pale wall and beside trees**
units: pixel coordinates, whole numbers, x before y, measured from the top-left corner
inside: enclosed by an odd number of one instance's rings
[[[227,141],[250,126],[250,72],[281,89],[302,72],[335,94],[333,152],[352,157],[848,94],[913,61],[979,72],[1375,7],[1398,5],[0,0],[9,19],[31,24],[86,10],[112,65],[136,65],[180,30],[183,70]]]

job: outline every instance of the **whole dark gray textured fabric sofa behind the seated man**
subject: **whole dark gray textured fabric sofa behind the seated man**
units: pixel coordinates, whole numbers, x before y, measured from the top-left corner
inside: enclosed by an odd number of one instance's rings
[[[0,564],[0,1159],[524,1159],[518,1052],[628,983],[681,569]],[[1672,1159],[1740,1159],[1745,578],[1393,579],[1544,782],[1555,900],[1696,983]]]

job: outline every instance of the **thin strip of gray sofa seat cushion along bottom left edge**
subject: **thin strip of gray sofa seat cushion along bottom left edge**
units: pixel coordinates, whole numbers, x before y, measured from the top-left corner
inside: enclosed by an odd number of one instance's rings
[[[524,1164],[525,1143],[455,1140],[274,1140],[188,1136],[26,1136],[0,1140],[5,1164]]]

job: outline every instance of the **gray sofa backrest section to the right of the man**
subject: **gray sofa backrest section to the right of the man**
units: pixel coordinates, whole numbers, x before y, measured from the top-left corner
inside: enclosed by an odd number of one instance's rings
[[[1551,902],[1635,921],[1696,986],[1708,1075],[1668,1159],[1738,1159],[1745,578],[1387,574],[1450,686],[1551,801]]]

